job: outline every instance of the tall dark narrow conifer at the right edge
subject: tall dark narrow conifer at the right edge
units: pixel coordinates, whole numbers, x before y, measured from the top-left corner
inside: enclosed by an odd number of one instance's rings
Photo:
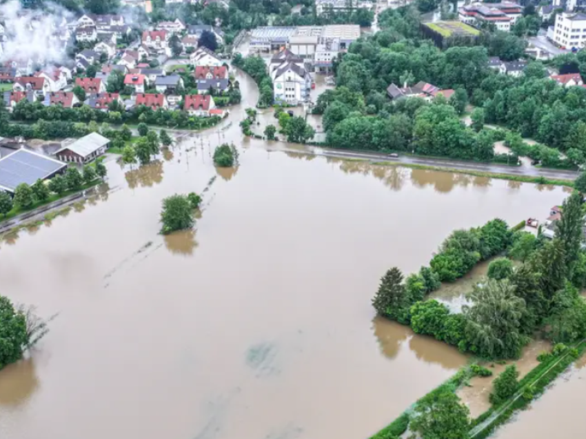
[[[563,243],[567,273],[572,275],[578,261],[578,252],[584,242],[584,213],[582,195],[578,192],[567,197],[561,208],[561,218],[556,223],[556,237]]]

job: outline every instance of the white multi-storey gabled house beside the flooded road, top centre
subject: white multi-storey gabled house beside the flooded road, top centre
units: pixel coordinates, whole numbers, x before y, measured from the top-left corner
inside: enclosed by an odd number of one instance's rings
[[[271,72],[274,100],[290,105],[301,104],[310,97],[312,78],[305,68],[292,61]]]

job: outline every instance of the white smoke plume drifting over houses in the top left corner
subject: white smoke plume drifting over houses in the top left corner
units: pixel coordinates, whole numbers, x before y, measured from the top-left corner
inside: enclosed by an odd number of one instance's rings
[[[55,4],[46,4],[45,10],[25,9],[18,0],[10,0],[0,5],[0,19],[6,35],[0,62],[32,59],[43,65],[66,61],[66,41],[59,35],[65,23],[75,19],[72,12]]]

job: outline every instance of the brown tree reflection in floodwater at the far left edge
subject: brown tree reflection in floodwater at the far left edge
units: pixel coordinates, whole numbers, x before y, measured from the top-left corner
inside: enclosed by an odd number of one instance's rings
[[[34,360],[28,358],[10,364],[0,373],[0,407],[17,407],[39,387]]]

